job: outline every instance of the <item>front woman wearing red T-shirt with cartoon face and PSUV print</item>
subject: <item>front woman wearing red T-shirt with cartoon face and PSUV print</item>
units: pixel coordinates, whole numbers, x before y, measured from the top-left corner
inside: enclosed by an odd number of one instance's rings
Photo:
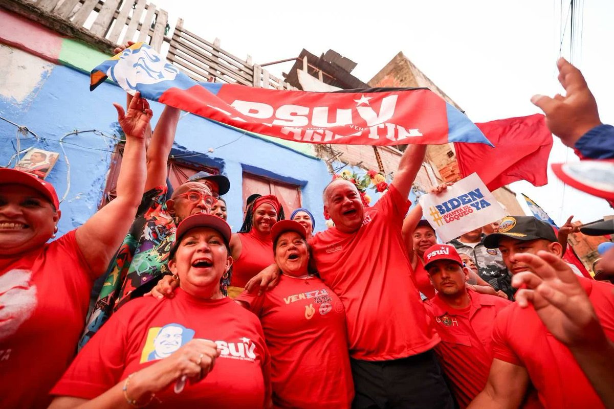
[[[230,237],[218,216],[185,218],[169,253],[174,297],[134,299],[111,316],[53,388],[51,408],[269,407],[262,327],[220,288]]]

